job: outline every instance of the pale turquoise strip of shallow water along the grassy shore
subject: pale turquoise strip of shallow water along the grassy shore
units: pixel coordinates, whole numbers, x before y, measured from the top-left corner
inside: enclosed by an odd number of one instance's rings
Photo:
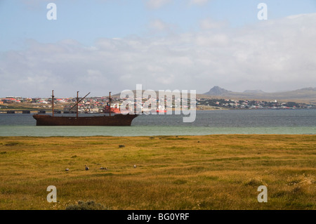
[[[0,136],[199,136],[211,134],[316,134],[310,127],[171,127],[171,126],[7,126],[0,129]]]

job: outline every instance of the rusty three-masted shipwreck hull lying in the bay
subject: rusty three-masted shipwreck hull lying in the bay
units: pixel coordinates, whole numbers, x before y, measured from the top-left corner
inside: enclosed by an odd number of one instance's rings
[[[79,100],[78,96],[79,91],[77,91],[77,103],[73,106],[77,106],[77,116],[61,116],[56,117],[54,115],[54,94],[52,91],[52,109],[53,115],[46,114],[34,114],[34,119],[37,120],[37,126],[131,126],[131,122],[134,118],[138,116],[138,114],[114,114],[110,110],[109,115],[103,116],[88,116],[88,117],[79,117],[78,114],[78,104],[86,98],[81,98]],[[111,93],[110,93],[110,107],[111,107]],[[73,108],[72,107],[72,108]],[[72,110],[70,108],[70,110]]]

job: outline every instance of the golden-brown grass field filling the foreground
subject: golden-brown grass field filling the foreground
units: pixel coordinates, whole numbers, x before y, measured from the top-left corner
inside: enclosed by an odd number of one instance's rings
[[[0,167],[0,209],[316,209],[316,136],[0,137]]]

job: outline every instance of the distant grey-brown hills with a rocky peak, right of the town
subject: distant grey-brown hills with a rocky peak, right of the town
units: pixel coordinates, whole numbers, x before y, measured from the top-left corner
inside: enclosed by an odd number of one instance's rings
[[[301,101],[301,102],[316,102],[316,88],[301,88],[295,91],[285,91],[276,93],[265,93],[261,90],[233,92],[228,91],[225,88],[214,86],[207,93],[202,95],[208,95],[212,98],[236,98],[236,99],[248,99],[248,100],[287,100],[287,101]],[[200,97],[202,96],[200,95]]]

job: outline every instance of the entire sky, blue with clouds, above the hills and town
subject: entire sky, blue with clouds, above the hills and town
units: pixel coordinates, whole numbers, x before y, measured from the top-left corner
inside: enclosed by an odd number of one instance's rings
[[[316,0],[0,0],[0,97],[316,87],[315,24]]]

